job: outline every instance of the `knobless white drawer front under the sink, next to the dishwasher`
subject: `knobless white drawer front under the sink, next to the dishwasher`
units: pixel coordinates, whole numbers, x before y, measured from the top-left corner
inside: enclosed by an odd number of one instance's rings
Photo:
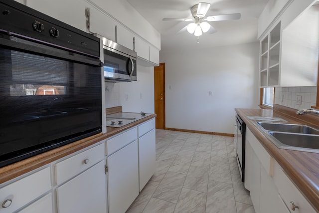
[[[251,148],[256,153],[267,174],[269,176],[273,176],[274,159],[269,155],[263,145],[261,145],[249,129],[246,131],[246,139],[249,141]]]

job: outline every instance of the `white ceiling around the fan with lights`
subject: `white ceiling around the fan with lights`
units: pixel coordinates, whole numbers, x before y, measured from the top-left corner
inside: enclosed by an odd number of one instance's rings
[[[200,0],[127,0],[161,34],[162,51],[183,51],[213,46],[233,45],[258,41],[258,17],[268,0],[202,0],[210,3],[209,15],[241,13],[239,20],[210,22],[217,32],[199,36],[178,32],[190,22],[162,21],[163,18],[191,18],[190,7]]]

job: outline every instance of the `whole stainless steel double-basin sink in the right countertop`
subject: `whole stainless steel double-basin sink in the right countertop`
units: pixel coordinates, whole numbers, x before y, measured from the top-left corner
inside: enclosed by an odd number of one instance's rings
[[[319,153],[319,130],[303,124],[256,122],[281,149]]]

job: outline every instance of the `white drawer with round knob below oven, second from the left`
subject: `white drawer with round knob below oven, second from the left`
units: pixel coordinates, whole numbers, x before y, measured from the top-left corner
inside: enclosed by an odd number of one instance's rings
[[[72,178],[104,158],[104,143],[55,164],[56,184]]]

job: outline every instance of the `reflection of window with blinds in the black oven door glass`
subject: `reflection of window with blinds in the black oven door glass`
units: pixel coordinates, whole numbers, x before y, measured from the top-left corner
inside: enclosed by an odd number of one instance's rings
[[[10,96],[67,94],[67,61],[13,50],[6,55],[11,57]]]

